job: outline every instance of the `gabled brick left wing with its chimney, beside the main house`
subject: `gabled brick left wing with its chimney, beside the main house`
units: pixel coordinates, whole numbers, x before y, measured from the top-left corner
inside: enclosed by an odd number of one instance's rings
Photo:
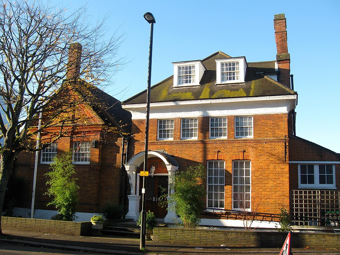
[[[77,43],[70,45],[67,72],[72,97],[86,95],[83,100],[79,100],[81,103],[73,113],[74,123],[64,125],[61,131],[60,125],[44,130],[41,144],[51,143],[53,135],[59,132],[63,135],[40,151],[38,158],[34,153],[22,152],[15,159],[13,172],[24,177],[27,182],[25,197],[17,201],[15,214],[18,216],[27,216],[27,209],[31,208],[35,160],[38,162],[35,217],[50,219],[56,214],[55,208],[46,206],[51,199],[44,195],[48,188],[45,174],[51,171],[49,164],[52,158],[57,153],[69,150],[73,151],[72,164],[77,173],[74,177],[80,186],[78,211],[81,213],[77,214],[78,220],[89,220],[108,201],[127,203],[123,163],[131,133],[131,114],[122,109],[119,100],[78,79],[81,48]],[[43,120],[48,117],[48,113],[43,113]]]

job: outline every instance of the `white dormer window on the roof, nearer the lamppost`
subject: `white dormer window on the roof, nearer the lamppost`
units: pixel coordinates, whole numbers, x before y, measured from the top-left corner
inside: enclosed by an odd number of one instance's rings
[[[174,62],[173,86],[200,85],[200,80],[206,68],[200,60],[190,62]]]

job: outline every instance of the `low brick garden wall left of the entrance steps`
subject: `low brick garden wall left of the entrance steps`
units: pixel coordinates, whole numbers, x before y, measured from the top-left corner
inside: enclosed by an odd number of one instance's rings
[[[87,235],[91,233],[90,221],[73,222],[59,220],[41,220],[30,218],[1,217],[1,228],[20,229],[44,233]]]

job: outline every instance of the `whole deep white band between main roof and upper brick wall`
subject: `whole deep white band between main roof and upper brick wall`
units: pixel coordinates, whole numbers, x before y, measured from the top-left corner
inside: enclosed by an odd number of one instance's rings
[[[259,115],[289,113],[295,108],[296,95],[261,98],[195,100],[150,104],[150,118],[181,118],[228,115]],[[122,105],[132,119],[145,119],[146,104]]]

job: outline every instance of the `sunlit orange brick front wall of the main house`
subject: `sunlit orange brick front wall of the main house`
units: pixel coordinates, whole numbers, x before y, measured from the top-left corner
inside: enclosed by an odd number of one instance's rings
[[[287,114],[254,115],[254,138],[234,138],[234,117],[227,116],[227,139],[209,139],[209,117],[198,118],[198,139],[181,140],[181,119],[174,119],[173,140],[157,141],[157,119],[150,120],[149,150],[165,150],[175,156],[179,170],[207,165],[207,160],[225,161],[225,209],[232,209],[232,160],[251,160],[253,205],[260,212],[278,214],[289,208],[288,160],[285,162]],[[133,120],[130,155],[144,150],[144,120]],[[287,138],[288,141],[288,138]],[[268,192],[270,190],[271,192]]]

